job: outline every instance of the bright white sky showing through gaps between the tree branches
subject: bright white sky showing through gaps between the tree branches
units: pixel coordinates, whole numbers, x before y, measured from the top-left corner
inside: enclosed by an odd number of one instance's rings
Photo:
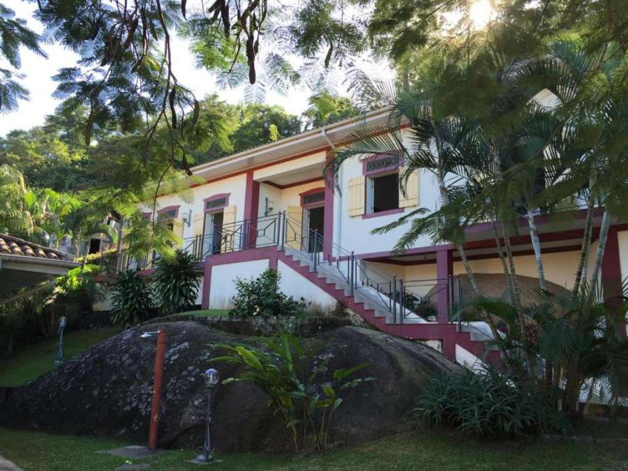
[[[28,26],[41,33],[43,26],[32,17],[36,4],[20,2],[12,4],[10,8],[15,10],[17,17],[24,18],[28,22]],[[228,103],[238,103],[242,100],[244,89],[226,89],[221,90],[216,87],[216,81],[213,75],[207,70],[195,67],[194,58],[188,50],[188,42],[181,38],[175,38],[172,45],[172,57],[174,58],[174,70],[179,77],[179,81],[192,89],[197,98],[202,98],[209,93],[218,93],[220,98]],[[55,107],[61,103],[59,100],[52,98],[52,92],[57,87],[50,77],[57,73],[61,67],[74,66],[77,60],[77,54],[70,50],[66,50],[57,44],[44,44],[48,58],[40,57],[29,50],[22,48],[20,55],[22,58],[22,67],[20,73],[24,74],[24,79],[20,82],[30,92],[29,101],[21,101],[20,107],[8,114],[0,114],[0,136],[6,135],[13,129],[29,129],[33,126],[43,124],[47,114],[54,113]],[[0,61],[0,67],[3,64]],[[393,72],[382,63],[372,63],[371,61],[362,60],[360,67],[364,68],[367,73],[377,74],[378,77],[390,79]],[[346,95],[346,89],[343,84],[338,86],[338,93]],[[303,87],[295,87],[288,91],[285,96],[274,91],[267,92],[266,103],[270,105],[281,105],[292,114],[301,114],[308,107],[308,98],[311,91]]]

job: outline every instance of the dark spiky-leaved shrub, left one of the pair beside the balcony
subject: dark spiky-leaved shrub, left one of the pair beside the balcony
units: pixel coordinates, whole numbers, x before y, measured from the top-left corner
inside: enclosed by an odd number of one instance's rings
[[[142,322],[152,306],[151,287],[147,278],[137,271],[127,270],[118,274],[112,290],[112,321],[132,325]]]

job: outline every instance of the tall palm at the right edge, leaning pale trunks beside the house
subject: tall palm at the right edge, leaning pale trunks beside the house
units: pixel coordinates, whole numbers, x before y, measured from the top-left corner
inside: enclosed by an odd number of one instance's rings
[[[627,212],[617,204],[618,195],[626,191],[622,180],[628,141],[625,61],[625,52],[618,45],[606,44],[590,52],[578,41],[569,40],[553,44],[546,56],[521,63],[513,74],[518,84],[541,80],[558,101],[551,110],[552,126],[537,133],[537,137],[542,135],[544,145],[534,149],[535,154],[544,156],[546,177],[553,179],[541,199],[555,202],[560,197],[578,195],[586,201],[574,293],[587,278],[586,261],[596,205],[604,207],[604,216],[591,277],[594,282],[599,276],[611,223],[609,211]],[[541,126],[536,128],[541,130]],[[533,217],[529,220],[532,224]]]

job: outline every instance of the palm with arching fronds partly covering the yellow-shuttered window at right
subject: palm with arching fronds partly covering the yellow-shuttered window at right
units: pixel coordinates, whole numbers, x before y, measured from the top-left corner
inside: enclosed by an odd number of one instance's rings
[[[401,136],[399,124],[410,124],[408,147]],[[465,248],[465,227],[481,217],[481,207],[468,205],[467,182],[470,174],[487,170],[485,156],[488,154],[481,138],[480,128],[463,117],[434,119],[432,110],[422,94],[404,92],[392,105],[389,126],[373,131],[359,131],[352,135],[349,144],[336,151],[328,169],[337,175],[342,163],[356,156],[398,155],[403,158],[404,170],[400,175],[400,186],[405,188],[410,174],[414,171],[429,172],[438,185],[440,210],[430,212],[426,208],[415,209],[394,223],[376,229],[384,233],[410,223],[410,227],[398,240],[394,251],[403,252],[423,234],[430,234],[433,240],[451,241],[461,257],[474,293],[480,290],[471,269]],[[498,331],[490,316],[485,317],[495,338]]]

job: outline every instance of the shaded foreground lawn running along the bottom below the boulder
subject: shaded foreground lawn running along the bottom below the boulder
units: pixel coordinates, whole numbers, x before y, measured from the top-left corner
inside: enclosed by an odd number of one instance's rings
[[[129,443],[90,437],[49,435],[0,428],[0,454],[29,471],[110,471],[123,458],[96,451]],[[151,470],[197,470],[187,463],[191,450],[170,453],[134,463],[149,463]],[[217,454],[220,470],[628,470],[626,447],[595,443],[475,442],[438,433],[403,433],[366,442],[357,447],[336,448],[311,456],[264,454]]]

